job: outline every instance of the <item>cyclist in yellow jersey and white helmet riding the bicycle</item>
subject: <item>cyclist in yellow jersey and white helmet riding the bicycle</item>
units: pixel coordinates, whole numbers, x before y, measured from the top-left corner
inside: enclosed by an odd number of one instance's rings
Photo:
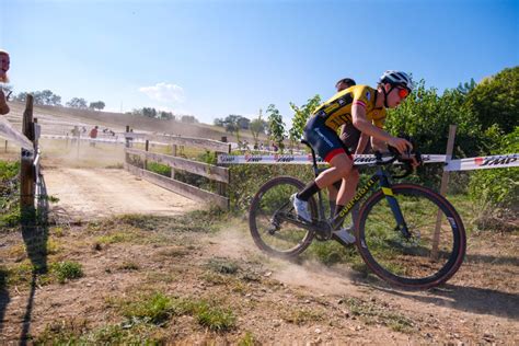
[[[367,85],[348,88],[336,93],[314,111],[304,127],[303,135],[316,153],[332,168],[322,172],[301,192],[292,195],[293,207],[301,219],[311,221],[308,210],[310,197],[341,178],[343,183],[337,195],[335,215],[341,212],[355,195],[359,174],[353,169],[351,154],[337,135],[337,129],[342,125],[353,124],[362,136],[372,138],[376,148],[380,148],[381,143],[388,143],[401,153],[412,149],[411,142],[393,137],[382,129],[385,108],[399,106],[412,90],[413,81],[405,72],[385,71],[377,89]],[[335,235],[351,242],[353,235],[345,229],[337,231]]]

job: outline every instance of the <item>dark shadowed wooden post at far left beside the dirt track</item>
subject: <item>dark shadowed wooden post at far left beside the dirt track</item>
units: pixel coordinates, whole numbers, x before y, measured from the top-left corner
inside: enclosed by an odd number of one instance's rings
[[[34,141],[33,124],[33,95],[27,94],[25,112],[23,113],[22,131],[31,141]],[[20,208],[22,211],[22,224],[27,224],[34,216],[34,192],[35,172],[34,154],[22,149],[22,162],[20,168]]]

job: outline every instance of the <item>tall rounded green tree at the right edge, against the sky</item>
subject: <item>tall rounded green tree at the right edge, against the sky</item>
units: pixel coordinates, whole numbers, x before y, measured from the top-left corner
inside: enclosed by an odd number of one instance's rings
[[[485,78],[466,95],[466,107],[483,130],[496,124],[504,134],[519,126],[519,66]]]

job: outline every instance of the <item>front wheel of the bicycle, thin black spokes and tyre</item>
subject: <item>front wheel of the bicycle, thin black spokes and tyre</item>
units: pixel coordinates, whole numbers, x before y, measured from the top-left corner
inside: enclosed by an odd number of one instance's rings
[[[364,261],[397,286],[430,288],[447,281],[465,254],[460,216],[446,198],[426,187],[397,184],[391,189],[410,234],[399,229],[385,195],[377,192],[364,205],[357,227]]]

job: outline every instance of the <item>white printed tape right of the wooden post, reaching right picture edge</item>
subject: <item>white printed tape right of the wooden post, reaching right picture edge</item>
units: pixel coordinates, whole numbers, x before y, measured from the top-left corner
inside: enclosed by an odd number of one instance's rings
[[[461,160],[451,160],[445,168],[446,171],[470,171],[487,169],[506,169],[519,166],[519,153],[505,155],[493,155],[482,158],[466,158]]]

